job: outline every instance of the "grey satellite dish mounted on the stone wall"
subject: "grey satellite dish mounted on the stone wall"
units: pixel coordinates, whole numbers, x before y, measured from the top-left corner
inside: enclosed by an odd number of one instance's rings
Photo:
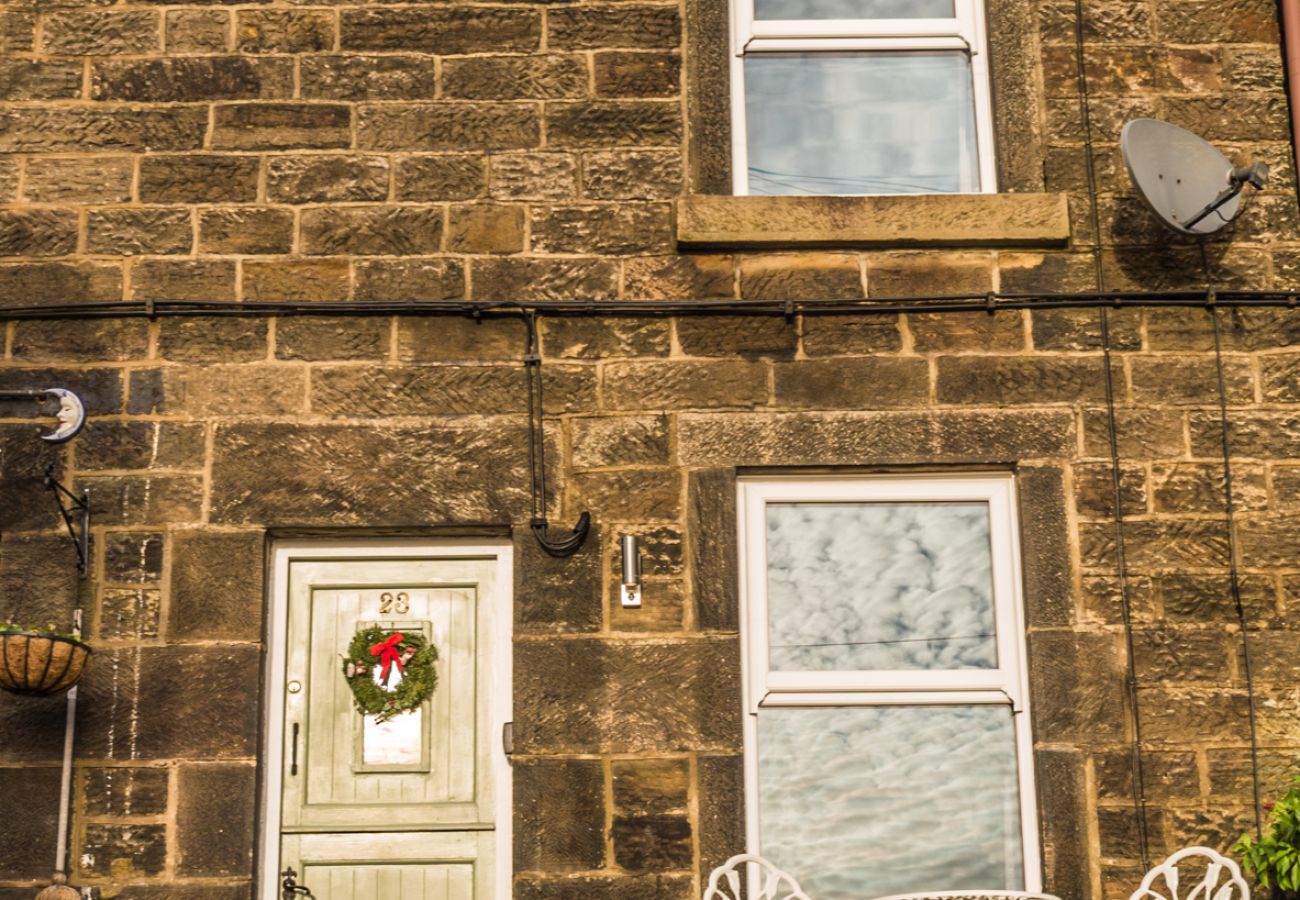
[[[1119,133],[1124,165],[1150,211],[1179,234],[1213,234],[1242,207],[1242,189],[1262,189],[1269,166],[1234,168],[1214,144],[1156,118],[1135,118]]]

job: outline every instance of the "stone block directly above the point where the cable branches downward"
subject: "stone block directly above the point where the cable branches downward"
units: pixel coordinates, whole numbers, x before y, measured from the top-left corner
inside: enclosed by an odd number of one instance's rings
[[[476,300],[603,300],[618,294],[612,260],[476,259],[471,295]]]

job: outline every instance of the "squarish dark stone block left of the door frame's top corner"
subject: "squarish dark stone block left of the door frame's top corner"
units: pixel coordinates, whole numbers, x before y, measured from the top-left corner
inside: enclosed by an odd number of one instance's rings
[[[260,637],[263,542],[261,532],[173,536],[168,640]]]

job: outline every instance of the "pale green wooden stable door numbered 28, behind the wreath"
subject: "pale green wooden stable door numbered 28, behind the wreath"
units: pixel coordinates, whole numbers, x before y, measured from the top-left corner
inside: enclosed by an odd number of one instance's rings
[[[318,900],[488,900],[494,854],[488,559],[295,561],[289,568],[281,864]],[[421,709],[377,723],[342,659],[361,628],[438,650]]]

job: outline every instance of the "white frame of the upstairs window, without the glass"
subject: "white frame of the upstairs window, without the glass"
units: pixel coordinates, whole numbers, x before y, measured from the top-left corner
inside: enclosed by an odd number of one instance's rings
[[[979,194],[997,192],[993,96],[984,0],[953,0],[953,18],[757,20],[754,0],[731,0],[732,190],[749,194],[745,57],[764,52],[958,49],[971,57]]]

